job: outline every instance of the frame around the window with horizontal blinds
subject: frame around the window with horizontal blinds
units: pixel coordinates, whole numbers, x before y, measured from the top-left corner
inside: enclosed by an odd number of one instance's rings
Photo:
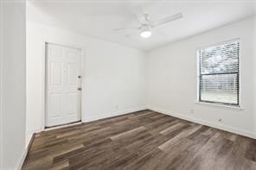
[[[227,72],[227,73],[208,73],[208,74],[201,74],[201,50],[208,48],[208,47],[215,47],[215,46],[221,46],[223,44],[228,44],[228,43],[232,43],[232,42],[238,42],[238,46],[239,46],[239,55],[238,55],[238,72]],[[197,97],[196,97],[196,103],[198,104],[212,104],[212,105],[216,105],[216,106],[224,106],[224,107],[232,107],[232,108],[240,108],[240,90],[241,90],[241,84],[240,84],[240,79],[241,79],[241,72],[240,72],[240,49],[241,49],[241,43],[240,43],[240,39],[236,38],[236,39],[232,39],[232,40],[228,40],[228,41],[221,41],[218,43],[214,43],[212,45],[208,45],[206,47],[200,47],[196,49],[196,59],[197,59],[197,86],[196,86],[196,91],[197,91]],[[200,79],[203,75],[218,75],[218,74],[232,74],[235,73],[237,74],[237,82],[238,82],[238,91],[237,91],[237,104],[230,104],[230,103],[223,103],[223,102],[215,102],[215,101],[208,101],[208,100],[202,100],[201,99],[201,84],[200,84]]]

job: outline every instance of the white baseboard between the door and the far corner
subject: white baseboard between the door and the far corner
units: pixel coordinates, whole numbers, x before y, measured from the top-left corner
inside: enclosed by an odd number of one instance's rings
[[[82,120],[82,122],[83,123],[92,122],[92,121],[96,121],[96,120],[107,118],[107,117],[111,117],[111,116],[125,115],[127,113],[131,113],[131,112],[135,112],[135,111],[140,111],[140,110],[146,110],[146,109],[147,109],[146,106],[142,106],[142,107],[138,107],[138,108],[131,109],[131,110],[122,110],[122,111],[102,114],[102,115],[99,115],[99,116],[89,116],[89,117],[85,117]]]

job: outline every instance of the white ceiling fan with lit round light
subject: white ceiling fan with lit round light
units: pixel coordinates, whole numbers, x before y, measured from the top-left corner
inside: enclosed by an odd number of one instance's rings
[[[152,35],[152,28],[157,28],[157,27],[163,26],[169,22],[173,22],[173,21],[183,17],[182,13],[177,13],[172,16],[167,16],[159,21],[152,22],[152,21],[150,21],[150,15],[144,13],[141,7],[137,8],[135,15],[137,16],[138,21],[141,24],[139,27],[137,27],[137,28],[116,28],[116,29],[114,29],[114,31],[124,31],[127,29],[134,29],[134,30],[138,30],[140,32],[141,37],[149,38]]]

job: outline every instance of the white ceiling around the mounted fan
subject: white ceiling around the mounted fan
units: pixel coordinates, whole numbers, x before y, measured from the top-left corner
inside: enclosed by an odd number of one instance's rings
[[[196,35],[230,22],[256,14],[256,1],[49,1],[37,0],[28,3],[28,20],[42,22],[56,28],[91,35],[106,41],[129,47],[150,50]],[[143,39],[138,31],[115,32],[114,28],[138,27],[133,14],[141,5],[152,21],[182,12],[183,18],[152,30],[152,36]],[[126,36],[131,35],[131,36]]]

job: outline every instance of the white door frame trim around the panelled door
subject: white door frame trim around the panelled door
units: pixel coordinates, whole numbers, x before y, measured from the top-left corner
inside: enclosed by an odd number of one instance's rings
[[[45,130],[45,125],[46,125],[46,46],[47,44],[54,44],[54,45],[58,45],[58,46],[62,46],[62,47],[71,47],[71,48],[75,48],[75,49],[79,49],[81,52],[81,64],[80,64],[80,69],[81,69],[81,76],[82,76],[82,80],[81,80],[81,86],[82,86],[82,91],[80,94],[80,121],[83,122],[83,93],[84,93],[84,79],[85,79],[85,47],[80,47],[74,44],[69,44],[69,43],[65,43],[65,42],[53,42],[53,41],[42,41],[42,131]]]

